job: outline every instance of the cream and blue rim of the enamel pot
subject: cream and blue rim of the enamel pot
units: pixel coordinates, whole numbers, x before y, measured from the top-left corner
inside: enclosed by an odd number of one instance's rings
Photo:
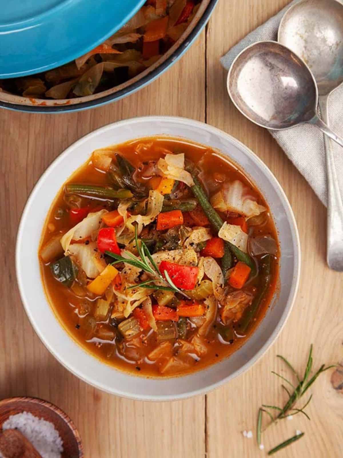
[[[97,94],[64,100],[22,97],[0,89],[0,107],[31,113],[56,113],[88,109],[126,97],[154,81],[183,55],[205,27],[217,2],[202,0],[192,22],[177,42],[154,65],[123,84]]]

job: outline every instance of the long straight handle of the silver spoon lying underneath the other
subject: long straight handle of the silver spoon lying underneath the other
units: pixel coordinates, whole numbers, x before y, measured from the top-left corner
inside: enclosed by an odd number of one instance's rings
[[[323,121],[328,125],[328,97],[319,98]],[[338,187],[332,144],[324,135],[327,164],[327,264],[331,269],[343,271],[343,204]]]

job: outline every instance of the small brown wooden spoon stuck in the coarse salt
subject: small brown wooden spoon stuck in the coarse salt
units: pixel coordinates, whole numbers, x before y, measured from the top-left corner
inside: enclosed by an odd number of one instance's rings
[[[32,443],[15,429],[0,434],[0,452],[4,458],[42,458]]]

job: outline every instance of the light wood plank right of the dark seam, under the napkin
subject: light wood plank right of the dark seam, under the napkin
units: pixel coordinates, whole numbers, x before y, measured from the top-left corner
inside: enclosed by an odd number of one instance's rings
[[[279,380],[270,373],[276,370],[289,375],[276,354],[287,357],[300,371],[304,370],[311,343],[315,368],[337,363],[343,355],[342,274],[326,266],[326,210],[268,132],[234,108],[225,90],[226,72],[219,62],[239,39],[287,3],[221,1],[207,31],[207,122],[244,142],[275,174],[294,210],[302,251],[299,293],[276,344],[250,371],[207,396],[208,458],[263,456],[256,445],[257,410],[262,403],[275,405],[286,400]],[[342,456],[343,397],[332,389],[331,372],[323,374],[311,390],[313,400],[306,409],[311,422],[297,415],[292,421],[273,425],[263,436],[266,450],[301,430],[305,436],[280,451],[278,458]],[[243,430],[252,430],[254,438],[244,438]]]

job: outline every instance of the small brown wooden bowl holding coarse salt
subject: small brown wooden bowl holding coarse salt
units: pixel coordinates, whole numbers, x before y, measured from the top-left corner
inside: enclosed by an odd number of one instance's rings
[[[53,423],[63,441],[63,458],[83,457],[80,434],[73,421],[61,409],[43,399],[23,397],[0,401],[0,428],[10,415],[24,411]]]

